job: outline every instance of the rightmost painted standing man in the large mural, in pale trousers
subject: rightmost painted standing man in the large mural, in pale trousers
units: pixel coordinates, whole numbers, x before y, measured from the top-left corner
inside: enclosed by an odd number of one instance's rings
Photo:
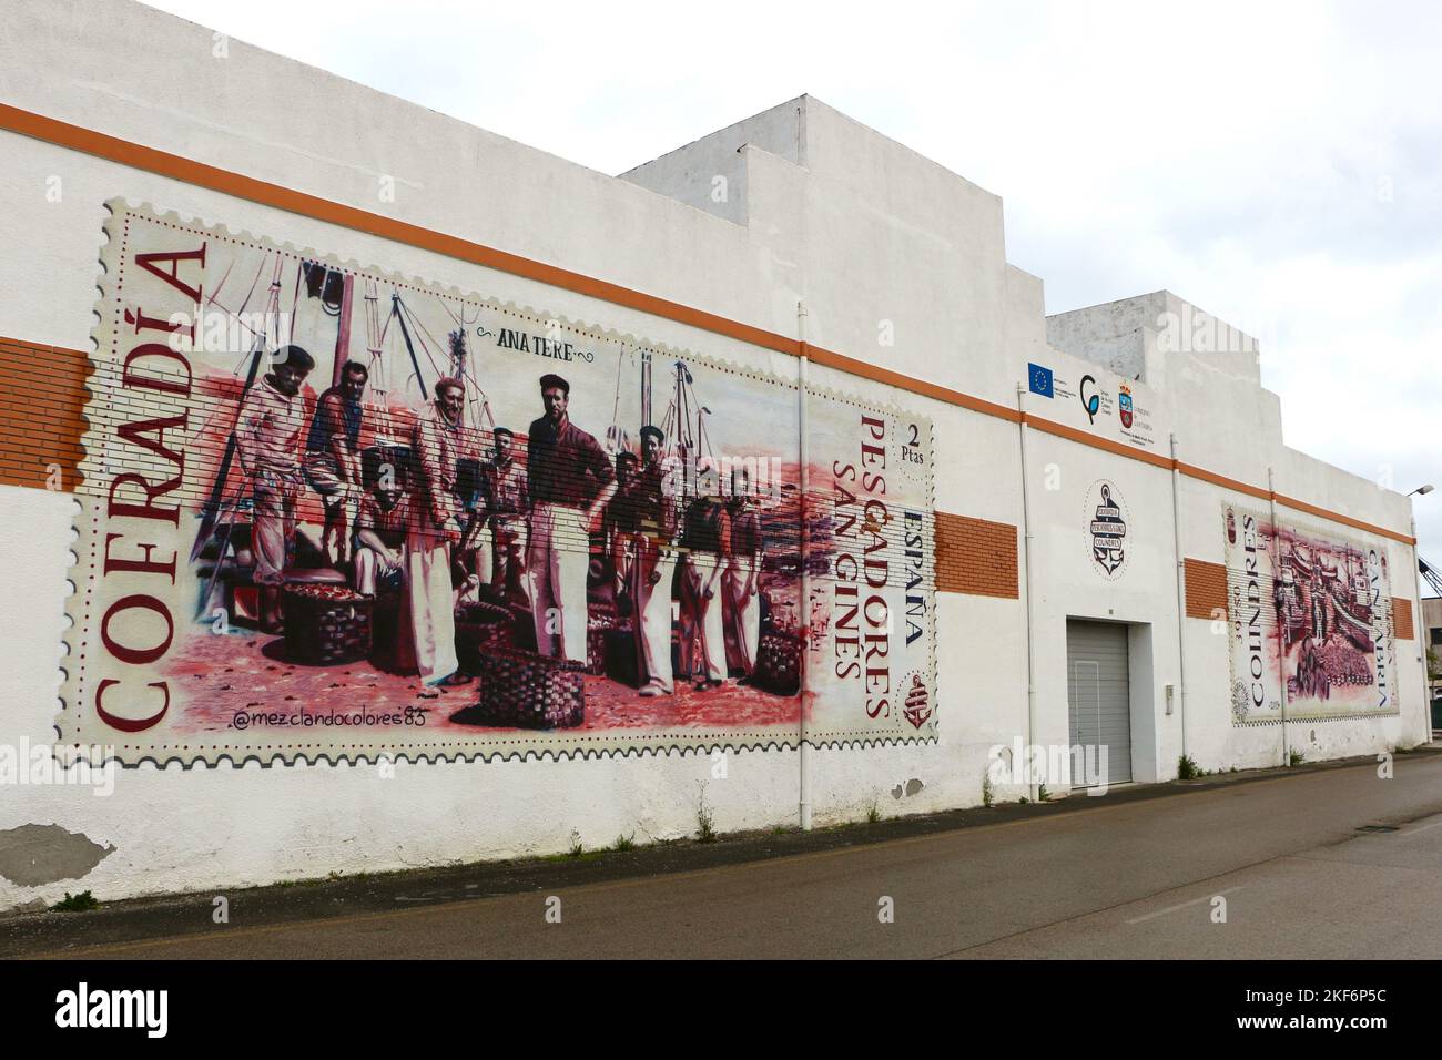
[[[722,561],[731,551],[731,518],[721,500],[717,470],[698,474],[698,496],[686,508],[681,547],[681,672],[695,678],[695,691],[725,684]]]

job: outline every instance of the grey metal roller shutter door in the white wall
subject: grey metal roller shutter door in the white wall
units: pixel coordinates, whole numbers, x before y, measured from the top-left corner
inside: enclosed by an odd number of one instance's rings
[[[1132,685],[1126,666],[1126,626],[1067,622],[1067,708],[1071,746],[1106,747],[1107,783],[1131,780]]]

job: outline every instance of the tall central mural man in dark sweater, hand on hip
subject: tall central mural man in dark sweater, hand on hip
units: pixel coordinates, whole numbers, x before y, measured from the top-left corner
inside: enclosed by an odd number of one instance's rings
[[[536,650],[584,665],[590,534],[616,493],[616,470],[596,438],[571,423],[571,384],[542,375],[541,401],[545,415],[531,424],[526,438],[526,594]]]

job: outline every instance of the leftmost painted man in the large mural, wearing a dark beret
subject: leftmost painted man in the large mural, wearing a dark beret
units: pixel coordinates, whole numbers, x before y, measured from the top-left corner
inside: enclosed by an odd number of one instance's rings
[[[300,346],[281,346],[271,371],[245,392],[235,423],[235,450],[251,480],[255,584],[260,587],[261,629],[278,633],[280,593],[296,538],[300,496],[300,433],[306,399],[300,387],[316,366]]]

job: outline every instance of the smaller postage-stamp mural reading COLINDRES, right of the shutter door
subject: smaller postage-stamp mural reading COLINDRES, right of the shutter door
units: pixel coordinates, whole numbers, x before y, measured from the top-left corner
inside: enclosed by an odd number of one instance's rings
[[[1223,506],[1233,720],[1397,712],[1386,552]]]

